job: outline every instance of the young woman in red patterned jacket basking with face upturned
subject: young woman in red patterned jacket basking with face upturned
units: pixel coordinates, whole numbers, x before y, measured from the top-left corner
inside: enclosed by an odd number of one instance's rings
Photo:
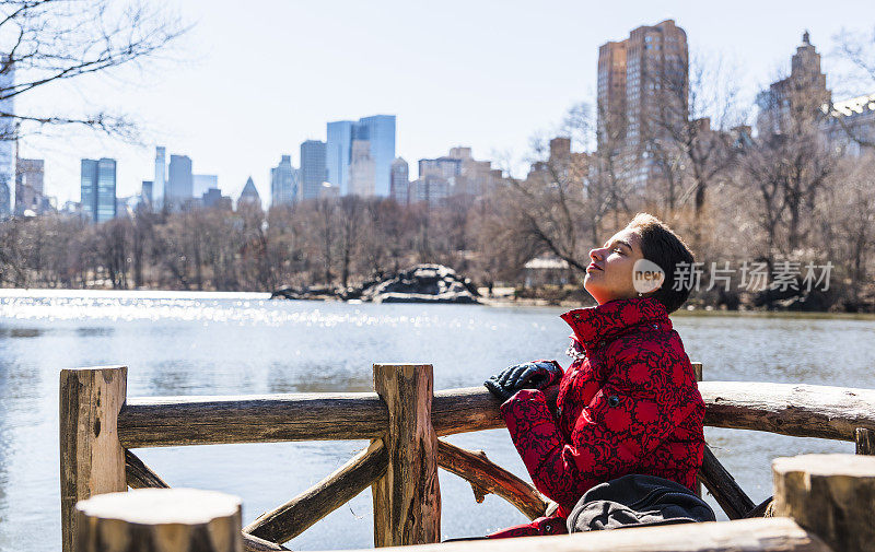
[[[689,296],[677,267],[692,263],[692,254],[640,213],[590,259],[583,285],[598,305],[562,315],[573,331],[571,366],[535,361],[485,383],[504,400],[501,414],[535,486],[559,505],[553,516],[491,538],[564,533],[587,490],[628,474],[695,488],[704,403],[668,319]],[[635,279],[652,263],[664,277]]]

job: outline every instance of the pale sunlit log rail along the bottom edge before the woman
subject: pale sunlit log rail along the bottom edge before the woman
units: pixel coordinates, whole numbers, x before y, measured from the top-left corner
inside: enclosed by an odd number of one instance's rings
[[[743,519],[708,524],[591,531],[557,537],[487,539],[393,552],[832,552],[792,519]],[[352,552],[352,551],[348,551]],[[364,551],[362,551],[364,552]],[[839,552],[838,550],[836,552]]]

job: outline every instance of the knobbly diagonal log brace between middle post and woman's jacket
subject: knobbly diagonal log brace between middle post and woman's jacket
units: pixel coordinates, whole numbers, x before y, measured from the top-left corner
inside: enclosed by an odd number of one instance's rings
[[[438,465],[468,481],[478,503],[482,502],[485,494],[492,493],[513,504],[529,519],[544,516],[550,504],[529,483],[489,461],[482,450],[465,450],[438,439]]]

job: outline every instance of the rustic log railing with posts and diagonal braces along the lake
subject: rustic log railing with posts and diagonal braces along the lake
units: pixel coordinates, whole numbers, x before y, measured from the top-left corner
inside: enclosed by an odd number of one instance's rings
[[[695,367],[700,375],[701,365]],[[530,519],[555,507],[482,451],[465,450],[439,438],[504,424],[498,411],[500,401],[482,387],[434,392],[430,365],[374,365],[376,392],[128,398],[126,380],[124,366],[61,371],[63,552],[82,552],[73,539],[77,502],[128,486],[167,486],[130,450],[140,447],[371,441],[370,447],[312,489],[244,527],[245,550],[285,550],[279,543],[300,535],[368,486],[372,486],[374,501],[376,545],[438,542],[438,467],[467,480],[478,502],[494,493]],[[858,443],[860,454],[875,450],[875,390],[737,381],[701,381],[699,389],[707,406],[705,425],[851,441]],[[770,504],[767,501],[755,507],[710,449],[700,481],[730,519],[761,516]],[[756,527],[763,535],[777,531],[786,542],[793,541],[793,535],[802,536],[800,542],[808,542],[807,533],[795,525],[774,521]],[[676,531],[678,538],[696,531],[666,530]],[[730,536],[736,531],[711,530]],[[739,529],[739,539],[742,533]],[[705,550],[696,547],[672,550]],[[779,549],[751,545],[744,550]]]

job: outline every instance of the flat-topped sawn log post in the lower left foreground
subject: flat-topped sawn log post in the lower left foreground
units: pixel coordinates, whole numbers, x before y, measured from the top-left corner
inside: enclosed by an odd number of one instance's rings
[[[195,489],[138,489],[75,506],[81,552],[243,552],[240,498]]]

